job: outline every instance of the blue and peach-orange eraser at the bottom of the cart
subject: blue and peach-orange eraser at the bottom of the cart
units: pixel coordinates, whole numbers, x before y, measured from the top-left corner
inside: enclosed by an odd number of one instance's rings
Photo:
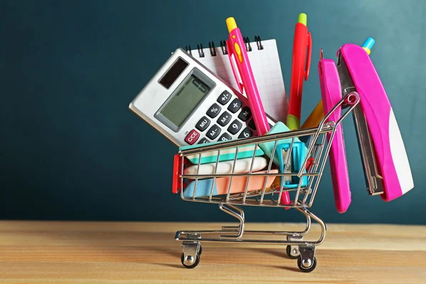
[[[257,172],[254,174],[262,174],[262,173],[263,174],[268,173],[268,171],[263,170],[261,172]],[[270,170],[269,173],[278,173],[278,170],[272,169]],[[268,180],[266,180],[266,178],[268,178]],[[204,180],[198,180],[197,185],[195,185],[195,180],[194,180],[190,182],[189,185],[187,185],[185,190],[183,190],[183,197],[191,198],[192,195],[194,195],[194,190],[196,190],[195,197],[209,197],[212,187],[213,187],[212,195],[227,195],[230,184],[231,184],[230,193],[244,193],[246,190],[247,182],[249,182],[249,186],[247,187],[247,192],[251,192],[254,190],[263,190],[265,181],[266,181],[266,188],[268,188],[268,187],[271,187],[272,182],[275,180],[275,178],[276,178],[275,175],[270,175],[268,177],[266,176],[256,177],[252,175],[250,177],[250,180],[248,180],[249,177],[236,176],[232,178],[232,183],[231,183],[230,177],[222,177],[222,178],[216,178],[216,179],[209,178]],[[216,181],[214,182],[214,180]]]

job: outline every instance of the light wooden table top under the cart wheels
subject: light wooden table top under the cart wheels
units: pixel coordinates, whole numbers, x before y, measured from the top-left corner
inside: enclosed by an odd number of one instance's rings
[[[0,222],[0,283],[426,283],[426,226],[327,224],[310,273],[297,268],[285,246],[262,244],[205,242],[200,264],[184,268],[175,232],[222,225]],[[319,232],[313,224],[305,239]]]

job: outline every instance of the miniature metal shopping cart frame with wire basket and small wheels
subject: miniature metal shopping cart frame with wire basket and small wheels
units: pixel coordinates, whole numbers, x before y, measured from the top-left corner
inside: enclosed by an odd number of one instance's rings
[[[223,212],[230,214],[239,220],[238,226],[222,226],[222,229],[219,230],[209,230],[209,231],[177,231],[175,234],[176,241],[182,241],[182,256],[181,261],[182,265],[186,268],[195,268],[200,262],[200,255],[202,253],[202,241],[208,242],[234,242],[242,244],[282,244],[286,245],[286,252],[290,258],[297,258],[297,266],[303,272],[310,272],[315,269],[317,266],[317,260],[315,258],[315,247],[322,244],[325,238],[327,231],[326,224],[317,217],[315,214],[310,212],[308,208],[312,206],[314,202],[315,194],[317,192],[317,187],[320,183],[322,173],[324,170],[324,165],[326,163],[330,146],[334,138],[334,133],[337,129],[337,126],[342,122],[342,120],[351,112],[356,105],[359,104],[359,95],[356,92],[351,92],[342,98],[338,102],[332,111],[329,111],[329,114],[324,116],[324,119],[320,122],[317,128],[312,129],[300,129],[297,131],[288,131],[275,134],[267,134],[264,136],[257,136],[253,138],[242,138],[236,141],[226,141],[223,143],[217,143],[213,145],[201,146],[198,148],[188,149],[185,151],[180,151],[178,156],[178,163],[175,161],[174,168],[174,183],[178,183],[178,191],[180,191],[180,197],[182,200],[190,202],[204,202],[204,203],[216,203],[219,205],[219,209]],[[336,111],[337,109],[342,111],[342,114],[338,121],[327,121],[329,116]],[[326,122],[327,121],[327,122]],[[271,168],[273,165],[273,158],[268,162],[268,170],[266,173],[252,173],[253,162],[251,163],[251,168],[249,173],[234,173],[235,162],[237,160],[237,153],[239,147],[255,145],[255,151],[253,151],[253,160],[255,157],[256,149],[259,147],[260,143],[274,142],[273,152],[275,154],[275,148],[278,145],[279,141],[283,139],[291,138],[291,145],[288,150],[288,157],[291,155],[293,150],[293,143],[295,143],[296,137],[301,136],[310,136],[310,143],[307,146],[306,158],[303,161],[302,167],[298,173],[271,173]],[[326,136],[327,136],[327,148],[326,145]],[[234,165],[232,168],[231,174],[216,174],[217,163],[219,162],[220,151],[223,151],[226,148],[236,148]],[[216,160],[216,170],[212,175],[184,175],[185,161],[186,157],[189,155],[198,155],[198,167],[200,167],[201,155],[202,153],[209,151],[218,151],[217,160]],[[309,167],[309,170],[306,170],[307,163],[309,160],[313,163]],[[290,158],[287,159],[285,169],[289,168]],[[176,165],[178,164],[178,167]],[[198,173],[198,171],[197,171]],[[268,180],[268,176],[278,177],[296,177],[299,178],[300,182],[298,183],[297,188],[285,188],[283,182],[280,183],[280,187],[266,187],[266,181],[264,182],[263,188],[261,190],[249,191],[249,180],[251,177],[263,176]],[[231,182],[229,184],[228,193],[226,196],[214,196],[213,185],[216,181],[216,178],[229,177]],[[231,193],[231,183],[232,179],[235,177],[247,177],[246,188],[244,192],[241,193]],[[307,185],[302,186],[302,178],[306,177],[308,182]],[[184,179],[195,180],[194,193],[192,197],[184,197],[183,190],[185,189]],[[212,190],[208,197],[195,197],[195,191],[197,190],[198,180],[205,178],[213,178]],[[283,180],[283,179],[281,179]],[[295,194],[294,199],[290,204],[283,204],[281,202],[281,196],[283,192],[292,192]],[[297,202],[296,202],[297,200]],[[239,206],[258,206],[258,207],[280,207],[280,208],[294,208],[306,217],[306,227],[303,231],[249,231],[245,230],[245,217],[244,210],[239,208]],[[314,219],[321,226],[321,235],[319,239],[315,241],[305,241],[303,239],[304,235],[310,231],[311,221]],[[214,237],[214,235],[217,235]],[[254,239],[246,236],[250,235],[263,235],[263,236],[285,236],[285,239]]]

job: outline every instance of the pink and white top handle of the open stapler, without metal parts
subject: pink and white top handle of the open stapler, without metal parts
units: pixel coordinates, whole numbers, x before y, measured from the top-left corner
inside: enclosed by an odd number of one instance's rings
[[[346,44],[340,52],[359,93],[361,109],[371,133],[378,170],[383,176],[381,197],[385,201],[394,200],[411,190],[414,182],[391,103],[365,50],[358,45]]]

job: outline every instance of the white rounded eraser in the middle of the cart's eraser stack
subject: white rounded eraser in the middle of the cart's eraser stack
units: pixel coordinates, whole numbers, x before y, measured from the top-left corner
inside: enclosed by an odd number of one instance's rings
[[[268,165],[268,161],[263,157],[255,157],[253,158],[244,158],[235,160],[234,173],[249,173],[251,164],[253,163],[253,168],[251,170],[252,173],[257,172],[259,170],[263,170]],[[198,165],[190,165],[185,168],[183,171],[184,175],[224,175],[231,174],[232,168],[234,166],[234,160],[224,160],[222,162],[217,163],[208,163],[202,164],[200,167]],[[216,173],[214,172],[216,170]]]

